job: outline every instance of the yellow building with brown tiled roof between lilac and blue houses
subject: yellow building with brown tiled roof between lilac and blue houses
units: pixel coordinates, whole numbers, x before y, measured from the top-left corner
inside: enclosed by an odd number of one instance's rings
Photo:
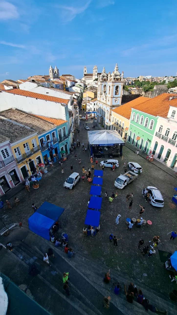
[[[1,117],[1,134],[9,140],[17,167],[24,180],[36,173],[37,164],[42,163],[37,132]]]

